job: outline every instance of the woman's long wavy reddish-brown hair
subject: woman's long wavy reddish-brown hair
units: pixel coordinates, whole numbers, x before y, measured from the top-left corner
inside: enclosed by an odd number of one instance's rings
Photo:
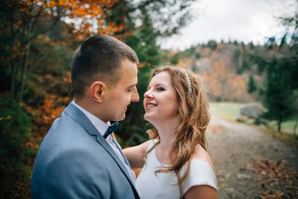
[[[195,148],[200,144],[207,150],[205,131],[210,121],[209,102],[207,91],[204,89],[203,79],[199,74],[176,66],[157,67],[151,71],[149,81],[160,72],[167,72],[171,76],[173,87],[177,94],[179,125],[175,128],[175,140],[170,148],[169,167],[160,167],[156,173],[175,172],[178,178],[180,195],[182,195],[182,183],[187,178],[190,163]],[[189,96],[186,73],[191,81],[192,94]],[[143,156],[146,163],[147,155],[160,143],[160,137],[155,127],[148,130],[150,139],[158,141]],[[186,166],[185,173],[180,176],[180,170]],[[182,197],[182,196],[181,196]]]

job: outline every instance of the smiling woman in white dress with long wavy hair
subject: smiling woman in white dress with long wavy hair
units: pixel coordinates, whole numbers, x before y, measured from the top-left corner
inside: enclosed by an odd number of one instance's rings
[[[155,68],[144,97],[151,140],[123,150],[132,168],[143,168],[136,180],[141,199],[217,199],[202,78],[182,67]]]

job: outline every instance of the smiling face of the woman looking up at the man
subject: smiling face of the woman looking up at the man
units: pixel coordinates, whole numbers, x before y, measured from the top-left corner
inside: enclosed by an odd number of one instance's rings
[[[177,94],[167,72],[160,72],[152,78],[144,97],[144,118],[152,124],[178,117]]]

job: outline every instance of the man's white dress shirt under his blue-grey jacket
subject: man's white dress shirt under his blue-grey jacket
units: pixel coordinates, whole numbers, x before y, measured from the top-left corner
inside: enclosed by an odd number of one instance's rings
[[[98,132],[103,136],[104,133],[108,130],[109,128],[109,124],[103,122],[101,119],[99,119],[98,117],[96,117],[95,115],[91,114],[90,112],[88,112],[87,110],[83,109],[82,107],[80,107],[79,105],[77,105],[74,100],[72,101],[72,103],[74,103],[74,105],[80,109],[85,115],[86,117],[88,117],[88,119],[91,121],[91,123],[94,125],[94,127],[98,130]],[[108,144],[112,147],[112,149],[115,151],[115,153],[117,154],[117,156],[120,158],[120,160],[122,161],[122,163],[124,164],[126,170],[128,171],[130,177],[132,178],[133,182],[136,181],[136,174],[134,171],[132,171],[128,165],[125,164],[124,159],[120,153],[120,151],[118,150],[118,148],[116,147],[116,145],[112,142],[112,136],[109,135],[105,140],[108,142]]]

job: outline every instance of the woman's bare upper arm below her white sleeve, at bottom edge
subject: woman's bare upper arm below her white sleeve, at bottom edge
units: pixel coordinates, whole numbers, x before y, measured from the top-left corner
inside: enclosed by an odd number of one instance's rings
[[[199,185],[190,188],[183,199],[218,199],[217,191],[207,185]]]

